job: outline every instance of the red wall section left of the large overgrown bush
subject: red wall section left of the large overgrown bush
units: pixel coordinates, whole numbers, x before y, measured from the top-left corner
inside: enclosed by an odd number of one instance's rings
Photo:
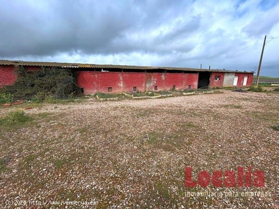
[[[0,88],[13,85],[16,79],[17,75],[14,65],[0,65]]]

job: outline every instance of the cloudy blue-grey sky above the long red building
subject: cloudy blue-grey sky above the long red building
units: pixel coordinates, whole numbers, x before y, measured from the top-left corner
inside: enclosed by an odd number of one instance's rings
[[[279,77],[279,1],[0,0],[0,59],[255,70]]]

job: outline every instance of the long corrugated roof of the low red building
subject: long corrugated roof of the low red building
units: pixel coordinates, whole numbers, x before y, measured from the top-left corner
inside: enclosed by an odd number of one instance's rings
[[[99,65],[99,64],[82,64],[82,63],[61,63],[61,62],[28,62],[28,61],[11,61],[0,60],[0,65],[22,65],[22,66],[41,66],[41,67],[65,67],[65,68],[116,68],[116,69],[138,69],[138,70],[181,70],[181,71],[199,71],[199,72],[246,72],[225,69],[199,69],[185,67],[152,67],[152,66],[134,66],[134,65]],[[253,71],[252,71],[253,72]]]

